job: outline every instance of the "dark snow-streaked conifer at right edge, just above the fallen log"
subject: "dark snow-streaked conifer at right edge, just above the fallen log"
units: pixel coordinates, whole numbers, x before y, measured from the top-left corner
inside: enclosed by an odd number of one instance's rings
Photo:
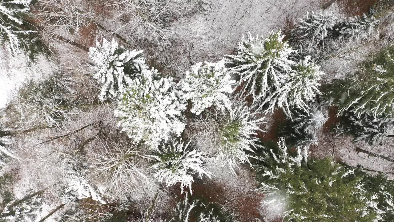
[[[357,117],[352,112],[345,112],[341,119],[341,123],[335,129],[337,135],[352,134],[354,142],[364,141],[372,145],[385,137],[394,137],[394,135],[389,135],[389,132],[394,129],[393,119],[367,114]]]

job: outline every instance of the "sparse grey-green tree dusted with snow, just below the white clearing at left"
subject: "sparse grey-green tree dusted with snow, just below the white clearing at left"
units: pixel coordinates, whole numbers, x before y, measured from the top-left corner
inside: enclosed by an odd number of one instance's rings
[[[15,128],[59,127],[73,109],[69,95],[69,78],[63,71],[42,82],[28,81],[9,102],[12,109],[6,117],[15,122]]]

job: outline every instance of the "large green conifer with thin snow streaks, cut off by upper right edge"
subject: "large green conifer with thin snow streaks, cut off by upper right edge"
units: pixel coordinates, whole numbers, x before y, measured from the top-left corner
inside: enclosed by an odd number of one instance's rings
[[[394,46],[388,46],[337,88],[339,112],[394,117]]]

